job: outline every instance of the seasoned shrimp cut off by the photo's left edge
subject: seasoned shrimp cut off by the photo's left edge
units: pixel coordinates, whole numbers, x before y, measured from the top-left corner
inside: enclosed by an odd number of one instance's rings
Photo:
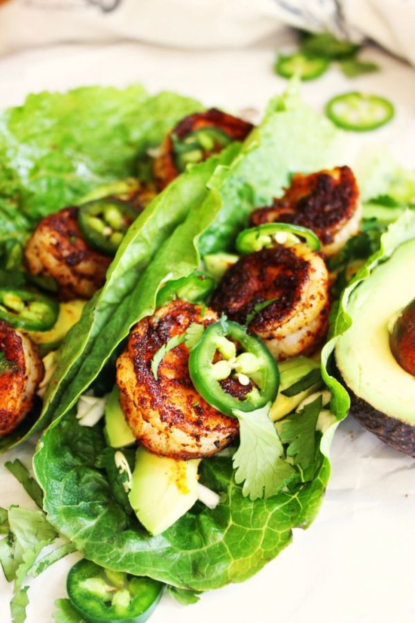
[[[30,411],[44,365],[28,336],[0,320],[0,437],[17,428]]]

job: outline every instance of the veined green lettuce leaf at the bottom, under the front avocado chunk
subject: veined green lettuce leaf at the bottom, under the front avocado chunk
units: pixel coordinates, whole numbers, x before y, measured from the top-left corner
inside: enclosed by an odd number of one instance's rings
[[[104,449],[102,428],[79,426],[75,414],[50,427],[37,455],[46,483],[48,519],[86,558],[106,568],[148,575],[179,588],[210,590],[247,579],[308,526],[322,500],[329,462],[311,482],[252,502],[234,481],[232,458],[201,464],[201,483],[221,495],[215,509],[196,504],[172,527],[151,536],[116,502],[106,473],[95,468]],[[111,534],[111,539],[102,539]]]

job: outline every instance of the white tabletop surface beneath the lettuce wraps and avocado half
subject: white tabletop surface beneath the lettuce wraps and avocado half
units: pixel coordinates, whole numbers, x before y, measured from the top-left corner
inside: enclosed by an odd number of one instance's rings
[[[0,60],[0,107],[18,105],[30,91],[81,84],[143,82],[150,91],[173,89],[206,105],[237,111],[261,109],[284,89],[271,70],[277,46],[268,42],[245,51],[172,51],[140,44],[107,47],[62,46],[26,51]],[[378,74],[347,80],[338,69],[304,84],[304,98],[316,109],[347,90],[385,95],[396,105],[384,129],[350,136],[351,153],[365,143],[385,143],[405,165],[415,166],[414,69],[376,50]],[[338,163],[342,165],[342,162]],[[17,456],[27,465],[33,444]],[[333,472],[322,510],[306,531],[264,570],[243,584],[206,593],[194,606],[164,597],[151,623],[284,621],[284,623],[403,623],[415,620],[415,462],[389,449],[347,418],[335,434]],[[33,507],[21,487],[0,467],[0,505]],[[29,591],[28,623],[52,621],[53,602],[65,597],[65,580],[77,554],[39,576]],[[0,573],[1,575],[1,573]],[[0,622],[10,622],[11,590],[0,577]]]

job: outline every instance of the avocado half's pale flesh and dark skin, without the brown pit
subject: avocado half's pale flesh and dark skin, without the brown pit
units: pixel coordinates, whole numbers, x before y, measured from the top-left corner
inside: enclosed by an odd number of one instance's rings
[[[389,346],[394,319],[414,298],[410,240],[351,293],[352,324],[338,338],[335,363],[351,397],[350,413],[383,442],[415,458],[415,377],[400,367]]]

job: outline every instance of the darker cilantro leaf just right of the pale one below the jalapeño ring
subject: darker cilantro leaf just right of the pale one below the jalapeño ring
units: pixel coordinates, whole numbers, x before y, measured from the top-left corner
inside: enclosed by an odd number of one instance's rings
[[[295,464],[303,471],[310,467],[315,459],[315,428],[321,408],[322,397],[320,395],[307,404],[302,411],[288,415],[281,423],[281,440],[283,444],[289,444],[287,456],[294,457]]]

